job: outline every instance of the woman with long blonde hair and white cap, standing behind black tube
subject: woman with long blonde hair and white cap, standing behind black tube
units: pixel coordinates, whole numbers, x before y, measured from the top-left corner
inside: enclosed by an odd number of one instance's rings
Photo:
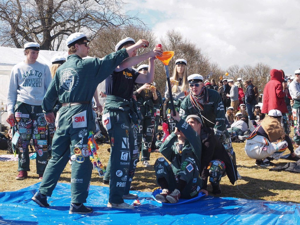
[[[182,100],[185,98],[185,92],[190,89],[187,81],[187,76],[188,76],[187,61],[183,58],[177,59],[175,61],[173,76],[170,78],[174,106],[177,112],[180,109],[180,104]],[[169,94],[169,89],[167,84],[165,87],[165,98],[166,101],[170,100],[170,94]],[[169,122],[169,128],[170,131],[174,131],[176,122],[173,120],[170,114],[170,109],[171,109],[170,102],[168,108],[169,109],[167,110],[167,118]]]

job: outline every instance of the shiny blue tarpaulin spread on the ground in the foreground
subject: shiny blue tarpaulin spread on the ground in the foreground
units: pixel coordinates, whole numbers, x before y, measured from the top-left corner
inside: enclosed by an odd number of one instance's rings
[[[90,186],[87,203],[94,212],[69,214],[70,184],[58,183],[50,207],[42,208],[31,200],[39,183],[13,192],[0,192],[0,224],[300,224],[300,204],[202,197],[199,201],[175,206],[162,206],[151,192],[137,193],[142,205],[133,210],[107,208],[107,187]],[[132,204],[134,200],[125,200]]]

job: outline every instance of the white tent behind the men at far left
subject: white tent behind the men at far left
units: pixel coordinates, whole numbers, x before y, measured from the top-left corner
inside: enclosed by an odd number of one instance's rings
[[[24,61],[24,49],[19,48],[9,48],[0,46],[0,104],[3,102],[4,109],[6,106],[7,99],[7,89],[10,78],[10,72],[13,66],[21,61]],[[59,51],[47,51],[41,50],[39,52],[38,60],[48,66],[51,66],[51,58],[56,55],[62,55],[64,57],[68,56],[68,52],[59,52]],[[98,91],[105,90],[105,82],[102,82],[98,85]],[[105,102],[101,97],[99,98],[100,103],[103,105]],[[8,126],[6,122],[7,113],[1,113],[1,124]]]

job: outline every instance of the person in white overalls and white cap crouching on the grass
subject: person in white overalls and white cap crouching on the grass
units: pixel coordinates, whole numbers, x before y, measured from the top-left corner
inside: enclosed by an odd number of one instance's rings
[[[256,166],[270,166],[270,160],[278,160],[287,148],[295,157],[292,141],[281,126],[281,117],[279,110],[270,110],[247,138],[245,152],[251,159],[256,159]]]

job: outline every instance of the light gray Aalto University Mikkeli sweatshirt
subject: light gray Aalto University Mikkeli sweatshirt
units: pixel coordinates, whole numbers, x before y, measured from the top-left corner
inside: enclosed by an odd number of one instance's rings
[[[49,67],[36,61],[16,64],[10,73],[7,91],[7,113],[14,113],[16,101],[29,105],[42,105],[47,88],[52,80]]]

